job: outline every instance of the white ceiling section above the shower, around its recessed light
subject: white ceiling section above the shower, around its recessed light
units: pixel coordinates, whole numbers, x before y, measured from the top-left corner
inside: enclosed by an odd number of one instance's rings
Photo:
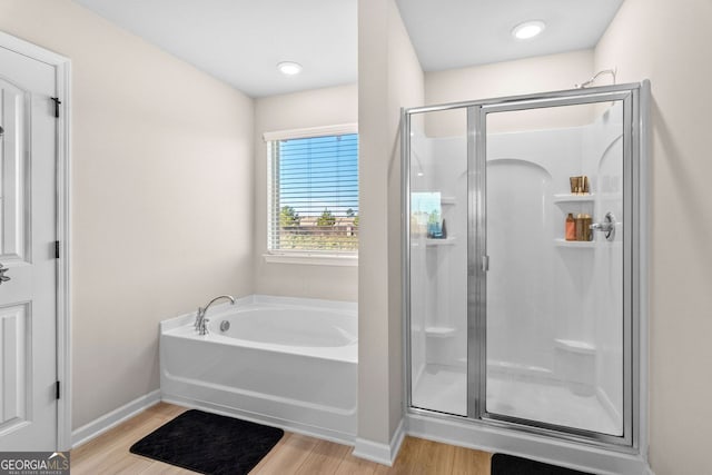
[[[594,47],[623,0],[396,0],[423,69],[438,71]],[[543,20],[517,40],[512,29]]]

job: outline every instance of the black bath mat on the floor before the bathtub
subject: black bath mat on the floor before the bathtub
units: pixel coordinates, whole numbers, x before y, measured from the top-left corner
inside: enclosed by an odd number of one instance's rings
[[[247,474],[284,431],[202,410],[187,410],[129,449],[202,474]]]

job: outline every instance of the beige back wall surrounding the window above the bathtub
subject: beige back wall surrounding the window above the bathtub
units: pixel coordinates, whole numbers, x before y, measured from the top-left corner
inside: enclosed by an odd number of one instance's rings
[[[255,291],[356,301],[358,268],[266,263],[267,146],[264,132],[358,122],[356,85],[273,96],[255,101]]]

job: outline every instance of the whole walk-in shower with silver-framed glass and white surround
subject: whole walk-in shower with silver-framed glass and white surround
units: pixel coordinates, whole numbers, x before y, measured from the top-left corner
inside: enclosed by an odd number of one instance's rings
[[[635,452],[645,88],[404,110],[408,414]]]

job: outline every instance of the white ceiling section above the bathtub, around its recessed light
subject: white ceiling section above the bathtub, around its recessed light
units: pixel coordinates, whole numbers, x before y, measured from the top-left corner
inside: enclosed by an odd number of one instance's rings
[[[358,78],[357,0],[75,1],[248,96]],[[280,61],[304,71],[286,77]]]

